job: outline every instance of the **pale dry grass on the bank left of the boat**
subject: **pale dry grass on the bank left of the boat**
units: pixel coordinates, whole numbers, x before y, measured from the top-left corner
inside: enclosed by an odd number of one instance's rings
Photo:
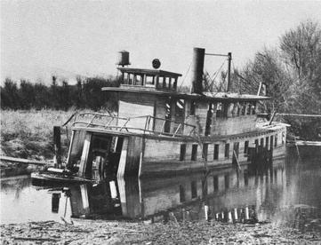
[[[2,110],[1,154],[36,160],[52,159],[53,126],[62,125],[73,113],[55,110]],[[61,147],[62,152],[66,153],[68,138],[65,128],[61,128]]]

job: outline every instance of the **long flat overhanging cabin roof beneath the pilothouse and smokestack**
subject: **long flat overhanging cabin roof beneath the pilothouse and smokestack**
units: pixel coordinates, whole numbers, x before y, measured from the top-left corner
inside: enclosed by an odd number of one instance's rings
[[[153,94],[158,96],[172,97],[177,99],[195,99],[195,100],[212,100],[212,101],[255,101],[270,99],[266,96],[257,96],[252,94],[239,94],[235,92],[204,92],[203,95],[197,93],[182,93],[178,91],[156,90],[142,86],[122,85],[121,87],[104,87],[102,91],[118,92],[137,92],[142,94]]]

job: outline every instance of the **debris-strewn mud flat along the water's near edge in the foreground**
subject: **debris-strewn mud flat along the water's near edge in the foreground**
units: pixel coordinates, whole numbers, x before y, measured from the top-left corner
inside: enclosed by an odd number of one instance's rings
[[[0,225],[2,244],[321,244],[320,233],[280,225],[76,220]]]

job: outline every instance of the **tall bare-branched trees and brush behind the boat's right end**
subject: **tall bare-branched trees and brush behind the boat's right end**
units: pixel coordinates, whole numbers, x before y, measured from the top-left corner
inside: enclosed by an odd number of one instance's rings
[[[301,22],[280,36],[273,48],[255,54],[245,67],[234,71],[239,92],[256,93],[263,84],[271,97],[264,111],[321,115],[321,28],[317,22]],[[305,139],[321,139],[321,120],[283,117],[290,130]]]

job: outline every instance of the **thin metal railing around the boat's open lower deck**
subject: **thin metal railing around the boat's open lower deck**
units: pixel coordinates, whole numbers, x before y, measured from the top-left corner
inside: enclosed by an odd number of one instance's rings
[[[139,124],[139,126],[128,125],[131,123]],[[165,130],[166,123],[170,123],[170,131]],[[156,127],[156,124],[162,124],[162,126]],[[196,132],[196,126],[188,123],[181,123],[151,115],[119,117],[111,113],[108,113],[108,115],[100,113],[76,114],[74,115],[74,122],[72,123],[72,126],[97,128],[101,130],[127,131],[142,134],[165,135],[173,138],[177,136],[192,136]]]

